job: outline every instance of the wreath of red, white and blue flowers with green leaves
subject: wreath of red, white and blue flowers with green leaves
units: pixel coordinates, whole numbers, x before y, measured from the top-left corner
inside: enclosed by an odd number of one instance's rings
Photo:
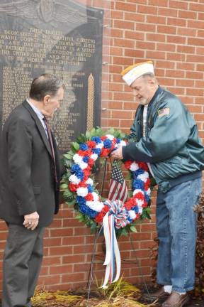
[[[118,235],[127,235],[128,231],[136,232],[135,222],[150,218],[151,181],[147,163],[125,161],[125,168],[130,172],[132,180],[132,193],[124,204],[102,198],[94,183],[92,171],[98,158],[104,161],[113,149],[126,144],[125,134],[121,131],[94,128],[78,136],[72,143],[72,149],[64,154],[64,165],[67,167],[61,183],[64,201],[74,205],[79,213],[77,218],[91,227],[92,232],[101,225],[107,212],[114,215]]]

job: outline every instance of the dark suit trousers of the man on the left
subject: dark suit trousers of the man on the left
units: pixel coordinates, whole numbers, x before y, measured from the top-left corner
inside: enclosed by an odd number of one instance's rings
[[[8,225],[4,251],[2,307],[31,306],[43,256],[45,228]]]

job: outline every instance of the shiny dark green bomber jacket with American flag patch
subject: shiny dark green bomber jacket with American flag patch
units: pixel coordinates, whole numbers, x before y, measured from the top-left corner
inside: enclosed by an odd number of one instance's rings
[[[123,158],[149,162],[164,192],[201,176],[204,147],[196,122],[181,100],[158,88],[147,110],[146,137],[142,137],[143,109],[142,105],[137,108],[130,134],[136,141],[123,147]]]

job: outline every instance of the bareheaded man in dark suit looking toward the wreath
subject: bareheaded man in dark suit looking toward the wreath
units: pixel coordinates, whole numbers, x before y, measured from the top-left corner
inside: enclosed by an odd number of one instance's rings
[[[40,75],[2,131],[0,217],[8,225],[3,307],[31,306],[43,233],[59,210],[60,161],[47,119],[60,107],[63,95],[63,80]]]

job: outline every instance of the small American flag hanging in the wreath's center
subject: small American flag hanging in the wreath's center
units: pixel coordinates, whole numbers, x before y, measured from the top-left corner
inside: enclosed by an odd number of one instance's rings
[[[121,200],[125,203],[125,200],[128,198],[128,188],[123,177],[123,172],[118,167],[116,161],[114,161],[112,165],[109,189],[109,200]]]

